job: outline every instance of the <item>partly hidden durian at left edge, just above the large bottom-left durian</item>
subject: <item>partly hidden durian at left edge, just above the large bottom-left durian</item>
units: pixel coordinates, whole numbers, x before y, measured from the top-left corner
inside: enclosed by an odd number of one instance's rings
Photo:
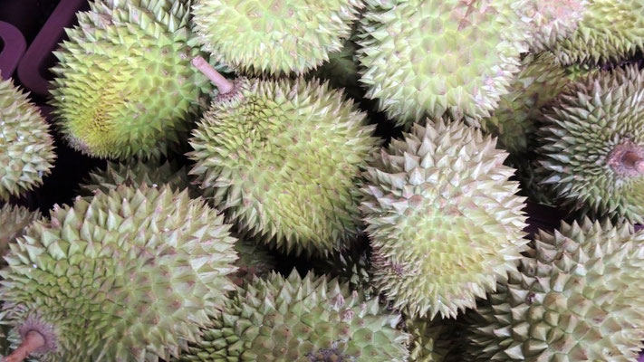
[[[0,265],[5,264],[2,256],[9,250],[9,243],[14,243],[27,226],[40,217],[39,211],[32,212],[23,206],[6,204],[0,207]]]

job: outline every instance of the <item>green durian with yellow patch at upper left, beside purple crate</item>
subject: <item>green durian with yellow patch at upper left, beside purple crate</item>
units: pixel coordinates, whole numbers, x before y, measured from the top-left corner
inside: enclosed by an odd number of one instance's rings
[[[190,61],[190,0],[97,0],[54,52],[52,105],[72,148],[93,157],[165,154],[211,87]],[[205,103],[202,101],[202,103]]]

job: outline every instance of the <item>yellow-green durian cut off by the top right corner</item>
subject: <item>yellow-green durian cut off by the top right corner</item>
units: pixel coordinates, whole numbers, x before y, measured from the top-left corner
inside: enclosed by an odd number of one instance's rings
[[[641,0],[588,0],[577,30],[551,48],[562,64],[620,62],[644,50]]]

